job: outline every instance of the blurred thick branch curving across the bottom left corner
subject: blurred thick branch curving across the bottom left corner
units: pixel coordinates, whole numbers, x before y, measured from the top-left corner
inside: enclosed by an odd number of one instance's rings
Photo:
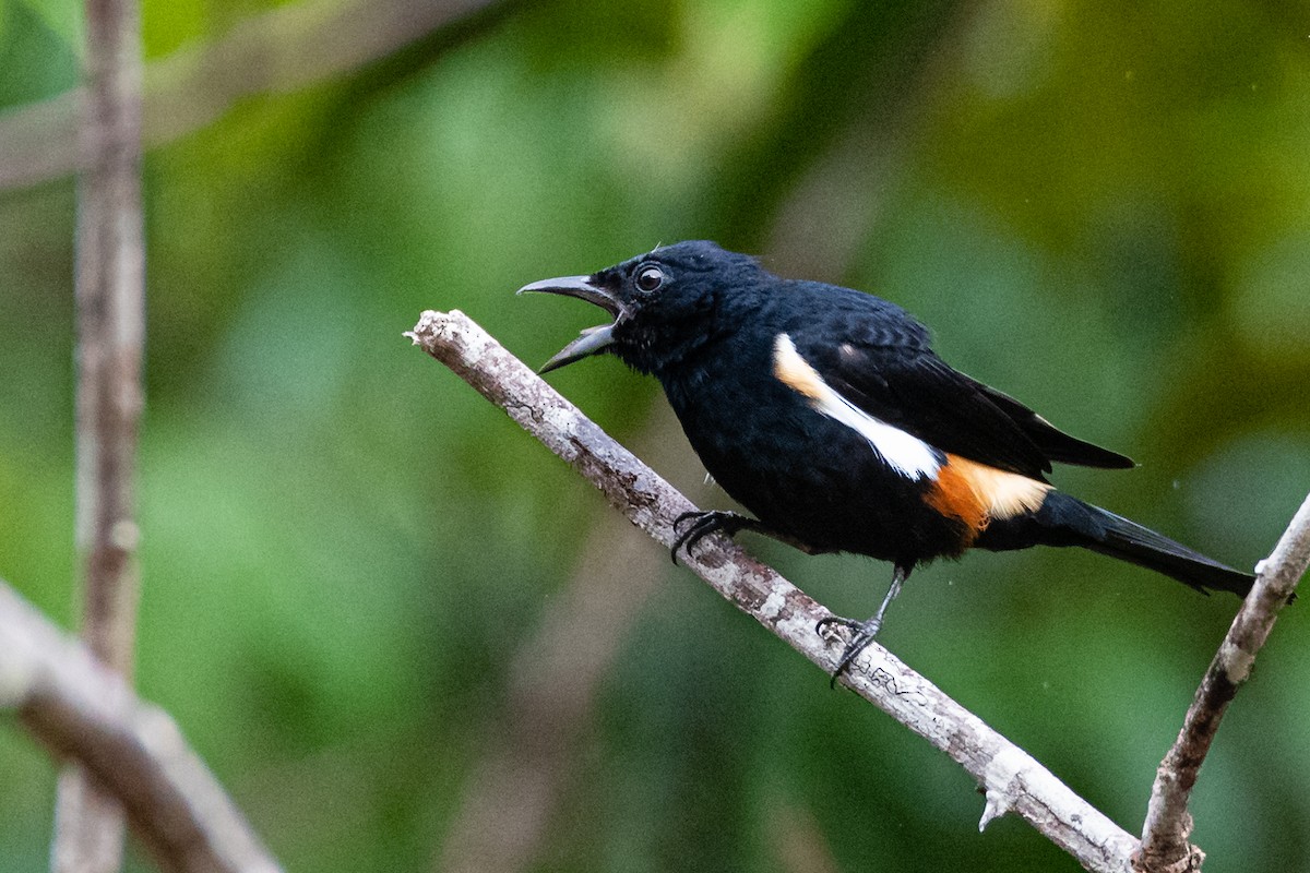
[[[168,713],[141,703],[4,581],[0,707],[119,798],[165,869],[280,870]]]

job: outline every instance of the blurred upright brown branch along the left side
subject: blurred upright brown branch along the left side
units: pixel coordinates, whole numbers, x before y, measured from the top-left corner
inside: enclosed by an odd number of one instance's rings
[[[141,43],[138,0],[86,0],[77,212],[77,521],[83,637],[130,675],[136,630],[134,474],[141,408]],[[123,813],[80,768],[59,780],[51,869],[122,864]]]

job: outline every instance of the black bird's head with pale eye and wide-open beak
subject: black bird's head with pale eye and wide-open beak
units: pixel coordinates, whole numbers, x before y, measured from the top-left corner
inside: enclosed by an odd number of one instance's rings
[[[584,330],[545,363],[542,373],[610,352],[637,370],[659,374],[731,330],[731,310],[747,304],[765,276],[755,258],[692,241],[660,246],[590,276],[534,281],[519,293],[579,297],[614,319]]]

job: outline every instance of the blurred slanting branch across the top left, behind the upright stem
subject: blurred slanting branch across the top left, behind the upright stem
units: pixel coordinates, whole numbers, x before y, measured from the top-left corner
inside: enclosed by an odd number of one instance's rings
[[[210,124],[248,94],[287,93],[388,55],[461,21],[491,0],[307,0],[252,16],[211,43],[186,47],[145,71],[145,143],[169,143]],[[0,115],[0,190],[86,166],[77,151],[81,89]]]

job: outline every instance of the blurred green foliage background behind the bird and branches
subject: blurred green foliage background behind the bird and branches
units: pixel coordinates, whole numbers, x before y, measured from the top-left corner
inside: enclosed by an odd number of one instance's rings
[[[1076,869],[1015,818],[979,835],[955,764],[401,331],[458,308],[540,364],[595,313],[515,288],[714,238],[905,305],[1140,463],[1061,487],[1250,567],[1310,487],[1310,7],[464,5],[145,3],[141,694],[295,870]],[[80,39],[75,4],[0,0],[0,170],[67,147],[4,137]],[[37,175],[0,192],[0,576],[72,626],[76,185]],[[652,381],[552,381],[727,505]],[[889,576],[744,539],[840,614]],[[916,573],[882,641],[1138,832],[1235,607],[979,554]],[[1307,627],[1201,774],[1216,869],[1310,868]],[[54,780],[10,722],[5,869],[46,865]]]

